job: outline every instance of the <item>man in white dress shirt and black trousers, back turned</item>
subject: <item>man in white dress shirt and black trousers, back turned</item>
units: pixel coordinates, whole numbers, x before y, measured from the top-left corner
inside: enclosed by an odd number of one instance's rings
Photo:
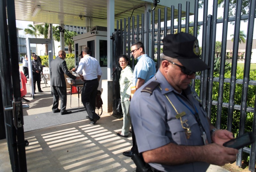
[[[83,48],[83,58],[79,62],[76,72],[84,80],[81,97],[88,114],[86,118],[90,119],[90,124],[95,125],[100,119],[100,116],[95,113],[95,99],[102,71],[99,61],[90,56],[90,49],[88,47]]]

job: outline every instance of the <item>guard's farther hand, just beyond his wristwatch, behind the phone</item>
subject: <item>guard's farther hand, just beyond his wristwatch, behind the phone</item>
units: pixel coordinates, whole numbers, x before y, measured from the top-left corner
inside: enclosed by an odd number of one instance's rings
[[[233,138],[233,133],[229,132],[228,130],[215,130],[215,132],[212,133],[212,141],[219,145],[223,145],[223,143]]]

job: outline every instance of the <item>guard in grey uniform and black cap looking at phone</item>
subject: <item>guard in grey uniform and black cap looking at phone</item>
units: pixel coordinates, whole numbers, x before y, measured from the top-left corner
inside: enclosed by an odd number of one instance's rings
[[[233,134],[210,123],[189,85],[196,71],[209,68],[199,58],[198,40],[181,32],[163,43],[158,72],[131,100],[139,153],[153,171],[198,172],[235,161],[238,151],[222,146]]]

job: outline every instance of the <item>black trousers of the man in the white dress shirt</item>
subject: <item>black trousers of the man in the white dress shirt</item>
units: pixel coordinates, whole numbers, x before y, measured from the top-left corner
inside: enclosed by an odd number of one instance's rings
[[[82,103],[87,111],[89,119],[98,119],[99,115],[95,113],[95,99],[97,95],[97,89],[99,86],[98,79],[86,80],[81,93]]]

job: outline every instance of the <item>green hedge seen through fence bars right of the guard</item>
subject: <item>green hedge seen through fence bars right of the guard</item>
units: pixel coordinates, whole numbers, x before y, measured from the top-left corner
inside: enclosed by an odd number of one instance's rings
[[[218,68],[218,63],[214,68],[214,77],[219,77],[220,72]],[[225,65],[225,74],[224,78],[230,78],[231,76],[231,65],[226,63]],[[244,77],[244,68],[237,67],[236,70],[236,79],[243,79]],[[250,70],[249,80],[255,80],[256,78],[256,70]],[[200,89],[200,80],[195,81],[195,90],[199,94]],[[229,103],[229,87],[230,83],[224,83],[223,87],[223,102]],[[212,86],[212,100],[218,101],[218,91],[219,91],[219,82],[213,82]],[[234,104],[241,105],[241,98],[242,98],[242,91],[243,85],[236,84],[235,95],[234,95]],[[246,105],[247,107],[254,107],[255,104],[255,93],[256,93],[256,86],[249,85],[248,87],[248,97]],[[232,133],[234,137],[237,137],[238,130],[239,130],[239,122],[240,122],[240,110],[233,111],[233,122],[232,122]],[[246,119],[245,119],[245,132],[252,131],[252,124],[253,124],[253,113],[246,112]],[[216,117],[217,117],[217,106],[212,105],[211,108],[211,122],[213,125],[216,124]],[[227,120],[228,120],[228,108],[222,107],[221,111],[221,129],[227,129]],[[249,162],[249,154],[243,154],[243,160],[248,163]]]

